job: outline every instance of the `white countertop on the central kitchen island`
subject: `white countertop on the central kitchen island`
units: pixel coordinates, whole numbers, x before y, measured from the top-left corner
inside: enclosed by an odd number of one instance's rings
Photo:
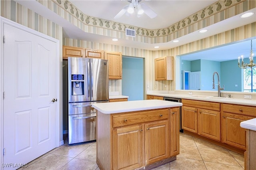
[[[180,106],[182,106],[182,103],[164,100],[120,101],[92,104],[92,107],[104,114],[144,111]]]

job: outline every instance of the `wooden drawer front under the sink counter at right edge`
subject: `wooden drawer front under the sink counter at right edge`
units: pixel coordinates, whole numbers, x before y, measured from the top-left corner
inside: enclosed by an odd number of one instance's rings
[[[256,117],[256,107],[222,104],[222,110],[228,113],[237,113]]]

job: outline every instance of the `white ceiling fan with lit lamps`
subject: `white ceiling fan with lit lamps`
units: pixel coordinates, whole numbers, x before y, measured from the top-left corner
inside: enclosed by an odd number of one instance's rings
[[[130,14],[134,12],[136,12],[137,17],[140,17],[143,13],[145,13],[150,18],[155,18],[157,14],[145,4],[140,4],[141,1],[142,0],[128,0],[130,4],[126,5],[120,12],[118,12],[118,14],[116,14],[114,19],[118,19],[124,14],[126,14],[127,16],[130,16]]]

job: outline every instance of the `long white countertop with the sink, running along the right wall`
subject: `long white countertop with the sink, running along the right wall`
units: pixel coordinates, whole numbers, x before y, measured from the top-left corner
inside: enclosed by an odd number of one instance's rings
[[[248,106],[256,106],[256,100],[255,99],[224,99],[224,100],[218,100],[218,99],[208,99],[208,98],[196,98],[192,97],[192,95],[188,94],[172,94],[172,93],[155,93],[155,92],[148,92],[147,95],[154,95],[154,96],[162,96],[162,97],[174,97],[174,98],[180,98],[180,99],[191,99],[191,100],[200,100],[200,101],[212,101],[212,102],[218,102],[218,103],[229,103],[229,104],[237,104],[237,105],[248,105]],[[195,94],[198,95],[198,94]],[[200,95],[200,94],[199,94]],[[216,95],[212,95],[216,96]]]

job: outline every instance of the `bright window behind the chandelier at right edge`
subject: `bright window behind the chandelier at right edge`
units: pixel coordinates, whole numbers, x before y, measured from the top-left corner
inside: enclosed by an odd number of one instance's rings
[[[244,69],[244,92],[256,92],[256,67]]]

